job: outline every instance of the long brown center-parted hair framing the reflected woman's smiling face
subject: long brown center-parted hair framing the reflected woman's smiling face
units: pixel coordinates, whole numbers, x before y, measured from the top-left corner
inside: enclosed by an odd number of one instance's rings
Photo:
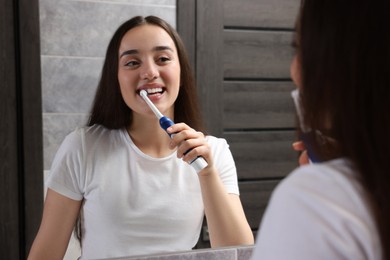
[[[175,122],[184,122],[205,132],[197,97],[196,83],[184,44],[167,22],[156,16],[136,16],[123,23],[114,33],[106,52],[101,78],[92,105],[88,126],[100,124],[109,129],[127,127],[132,122],[132,110],[124,102],[118,81],[118,50],[123,36],[131,29],[144,24],[164,29],[175,43],[181,73],[180,90],[175,101]]]

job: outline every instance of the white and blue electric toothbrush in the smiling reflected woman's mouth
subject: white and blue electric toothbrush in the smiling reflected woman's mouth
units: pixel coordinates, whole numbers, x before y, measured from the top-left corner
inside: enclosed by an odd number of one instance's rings
[[[161,128],[164,129],[165,132],[167,132],[167,128],[170,127],[171,125],[174,125],[175,123],[171,119],[169,119],[168,117],[166,117],[163,114],[161,114],[161,112],[157,109],[157,107],[149,99],[148,92],[146,92],[146,90],[141,90],[140,91],[140,96],[145,100],[146,104],[148,104],[150,109],[156,115],[157,119],[159,120]],[[173,137],[173,134],[170,134],[168,132],[167,132],[167,134],[169,135],[170,138]],[[208,165],[206,160],[203,157],[201,157],[201,156],[196,157],[189,164],[195,169],[196,172],[200,172],[201,170],[206,168],[207,165]]]

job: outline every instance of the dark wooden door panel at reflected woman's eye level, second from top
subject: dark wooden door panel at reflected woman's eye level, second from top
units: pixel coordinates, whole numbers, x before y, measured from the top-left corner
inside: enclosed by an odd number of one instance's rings
[[[260,30],[225,30],[225,78],[289,78],[293,33]]]

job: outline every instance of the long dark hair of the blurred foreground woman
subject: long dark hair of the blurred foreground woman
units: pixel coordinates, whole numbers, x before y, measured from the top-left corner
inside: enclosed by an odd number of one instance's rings
[[[303,0],[297,22],[305,124],[337,141],[322,159],[346,157],[390,258],[389,1]],[[328,147],[329,148],[329,147]]]

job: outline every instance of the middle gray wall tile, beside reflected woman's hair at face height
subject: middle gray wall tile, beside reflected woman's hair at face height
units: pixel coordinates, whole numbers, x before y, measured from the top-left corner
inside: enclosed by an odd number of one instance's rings
[[[89,113],[103,59],[42,56],[44,113]]]

